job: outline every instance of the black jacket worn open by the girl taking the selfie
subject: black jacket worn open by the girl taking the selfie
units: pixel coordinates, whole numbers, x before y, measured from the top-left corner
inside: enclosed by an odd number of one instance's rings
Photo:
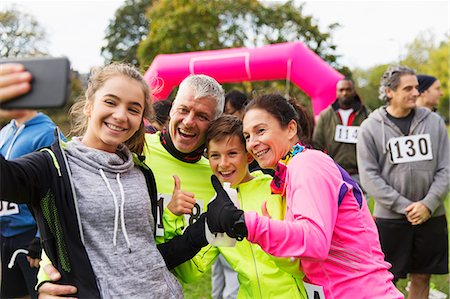
[[[0,155],[0,198],[27,203],[32,208],[43,248],[61,273],[58,283],[76,286],[76,296],[80,298],[99,298],[94,271],[81,240],[67,159],[57,134],[55,131],[51,147],[39,152],[11,161]],[[156,219],[153,173],[145,164],[137,165],[145,176]],[[204,222],[197,221],[183,235],[157,246],[167,267],[172,269],[191,259],[206,244]]]

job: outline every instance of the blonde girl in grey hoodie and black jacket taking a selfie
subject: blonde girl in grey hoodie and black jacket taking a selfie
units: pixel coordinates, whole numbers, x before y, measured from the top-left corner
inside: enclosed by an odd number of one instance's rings
[[[7,98],[0,90],[0,101]],[[15,160],[0,154],[0,198],[33,209],[45,253],[70,295],[183,298],[169,269],[207,245],[205,215],[183,235],[155,242],[156,183],[140,156],[149,100],[134,67],[107,65],[91,75],[84,100],[72,107],[77,137],[56,138]],[[40,281],[41,288],[49,284]]]

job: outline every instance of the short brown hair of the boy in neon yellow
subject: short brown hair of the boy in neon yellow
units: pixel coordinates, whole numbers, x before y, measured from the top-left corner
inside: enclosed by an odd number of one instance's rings
[[[222,115],[212,121],[206,132],[206,148],[211,140],[221,141],[226,137],[237,136],[245,148],[245,138],[242,134],[242,121],[234,115]]]

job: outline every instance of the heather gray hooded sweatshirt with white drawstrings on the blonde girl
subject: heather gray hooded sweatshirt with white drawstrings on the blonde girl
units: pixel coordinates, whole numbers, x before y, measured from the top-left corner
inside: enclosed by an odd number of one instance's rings
[[[108,153],[77,138],[66,151],[82,236],[102,298],[183,298],[153,234],[144,174],[131,152]]]

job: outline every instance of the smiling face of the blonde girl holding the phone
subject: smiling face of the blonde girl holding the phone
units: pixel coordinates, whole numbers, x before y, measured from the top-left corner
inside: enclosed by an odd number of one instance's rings
[[[88,126],[82,142],[92,148],[114,153],[117,146],[139,129],[145,95],[140,83],[123,75],[109,78],[88,100],[84,113]]]

